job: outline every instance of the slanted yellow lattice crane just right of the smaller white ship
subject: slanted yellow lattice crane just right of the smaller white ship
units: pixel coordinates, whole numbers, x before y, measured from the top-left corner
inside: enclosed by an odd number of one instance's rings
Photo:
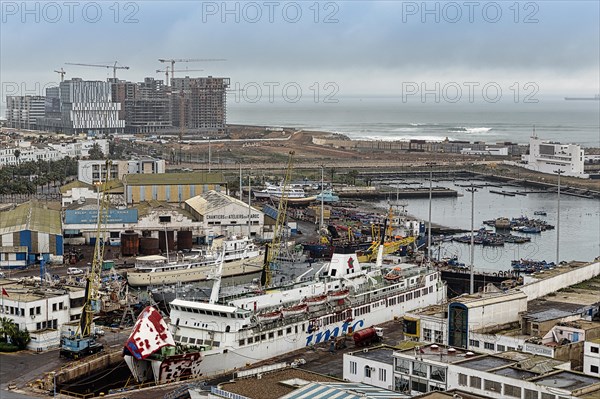
[[[263,272],[261,275],[261,284],[263,287],[271,285],[272,271],[275,268],[275,261],[277,256],[281,252],[283,229],[285,227],[285,219],[287,216],[287,204],[288,204],[288,186],[292,178],[292,168],[294,164],[294,151],[289,152],[288,164],[285,170],[285,176],[283,177],[283,183],[281,184],[281,198],[279,198],[279,205],[277,207],[277,220],[275,227],[273,228],[273,240],[267,246],[265,252],[265,262],[263,265]],[[287,245],[287,243],[286,243]]]

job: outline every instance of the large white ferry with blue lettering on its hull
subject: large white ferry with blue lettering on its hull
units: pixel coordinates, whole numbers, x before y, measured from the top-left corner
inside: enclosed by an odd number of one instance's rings
[[[377,265],[361,265],[356,254],[334,254],[310,282],[218,303],[217,281],[208,303],[181,299],[170,303],[170,331],[175,342],[201,350],[197,369],[210,375],[445,301],[446,286],[438,271],[402,265],[402,276],[389,282],[383,278],[381,253]],[[145,360],[125,357],[130,368],[145,368],[136,366]]]

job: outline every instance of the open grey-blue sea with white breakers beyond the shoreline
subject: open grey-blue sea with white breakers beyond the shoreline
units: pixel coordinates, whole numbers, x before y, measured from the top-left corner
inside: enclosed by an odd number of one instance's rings
[[[553,98],[538,103],[422,103],[400,97],[343,97],[337,103],[229,99],[233,124],[323,130],[363,140],[461,140],[525,144],[535,126],[551,141],[600,147],[600,102]]]

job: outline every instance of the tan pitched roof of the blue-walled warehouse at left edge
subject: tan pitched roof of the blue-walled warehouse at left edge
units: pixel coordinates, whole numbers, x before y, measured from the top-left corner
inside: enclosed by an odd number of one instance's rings
[[[50,208],[37,201],[28,201],[13,210],[2,212],[0,234],[31,230],[61,235],[60,211]]]

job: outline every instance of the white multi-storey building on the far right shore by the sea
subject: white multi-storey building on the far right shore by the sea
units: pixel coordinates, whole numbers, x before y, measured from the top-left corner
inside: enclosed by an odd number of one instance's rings
[[[525,168],[542,173],[587,178],[584,172],[584,151],[577,144],[561,144],[543,141],[535,132],[529,139],[529,154],[523,155]]]

